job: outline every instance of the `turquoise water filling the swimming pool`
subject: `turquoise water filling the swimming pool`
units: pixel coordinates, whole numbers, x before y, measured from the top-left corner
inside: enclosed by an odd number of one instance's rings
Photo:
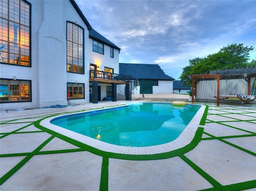
[[[131,104],[58,117],[50,123],[119,146],[145,147],[178,138],[200,106]]]

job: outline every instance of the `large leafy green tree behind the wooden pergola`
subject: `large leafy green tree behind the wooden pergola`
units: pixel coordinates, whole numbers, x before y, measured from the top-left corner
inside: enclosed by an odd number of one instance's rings
[[[191,87],[191,79],[189,75],[209,74],[211,70],[232,69],[240,67],[254,66],[256,61],[253,59],[250,63],[249,52],[254,47],[243,47],[243,44],[231,44],[223,47],[212,55],[204,58],[194,58],[189,60],[189,65],[182,68],[182,74],[179,79],[184,80],[187,87]]]

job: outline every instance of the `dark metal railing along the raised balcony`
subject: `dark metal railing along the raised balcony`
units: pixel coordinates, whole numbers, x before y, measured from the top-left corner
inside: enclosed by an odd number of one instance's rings
[[[99,70],[90,70],[90,78],[117,80],[117,81],[130,81],[130,76],[114,74],[110,72],[104,72]]]

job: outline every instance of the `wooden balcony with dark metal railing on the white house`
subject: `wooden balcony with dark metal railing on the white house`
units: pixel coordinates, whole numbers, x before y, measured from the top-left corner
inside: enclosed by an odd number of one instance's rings
[[[99,70],[90,70],[90,82],[98,81],[100,83],[117,83],[117,84],[129,84],[130,76],[120,75],[115,73],[109,73]]]

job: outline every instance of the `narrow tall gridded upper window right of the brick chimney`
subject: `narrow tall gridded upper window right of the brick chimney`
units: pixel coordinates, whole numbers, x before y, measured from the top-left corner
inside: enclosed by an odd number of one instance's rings
[[[67,22],[67,71],[84,74],[84,29]]]

